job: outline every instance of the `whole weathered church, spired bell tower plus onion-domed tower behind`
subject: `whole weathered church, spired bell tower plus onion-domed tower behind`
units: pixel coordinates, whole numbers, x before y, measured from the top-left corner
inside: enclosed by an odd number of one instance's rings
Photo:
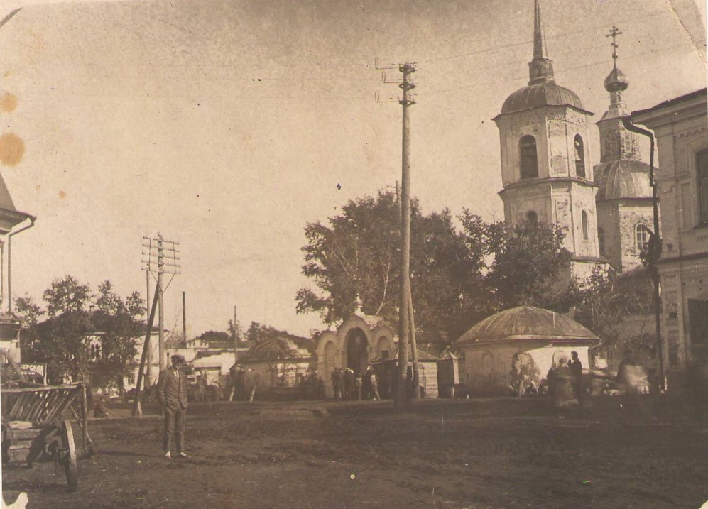
[[[506,222],[556,224],[572,253],[570,275],[582,280],[595,270],[626,274],[641,267],[653,221],[649,168],[636,135],[622,123],[628,115],[622,92],[628,80],[616,65],[604,81],[610,94],[597,122],[600,163],[589,152],[593,116],[572,90],[555,82],[547,56],[540,7],[535,1],[533,59],[528,85],[513,92],[494,118],[499,128]]]

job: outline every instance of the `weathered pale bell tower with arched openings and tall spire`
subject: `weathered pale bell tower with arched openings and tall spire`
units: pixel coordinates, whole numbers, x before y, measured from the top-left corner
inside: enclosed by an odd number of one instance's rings
[[[557,224],[573,255],[571,272],[586,278],[598,265],[597,213],[588,126],[592,112],[555,82],[547,56],[539,0],[534,3],[533,59],[526,87],[513,92],[494,118],[501,141],[504,219]]]

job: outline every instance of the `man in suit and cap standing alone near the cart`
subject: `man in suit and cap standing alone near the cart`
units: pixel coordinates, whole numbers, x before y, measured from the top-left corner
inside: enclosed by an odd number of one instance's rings
[[[170,360],[172,367],[160,372],[158,381],[158,400],[165,412],[165,429],[163,432],[163,451],[165,458],[171,458],[173,432],[177,454],[180,458],[188,458],[185,452],[185,420],[187,417],[187,376],[180,370],[185,362],[181,355],[173,355]]]

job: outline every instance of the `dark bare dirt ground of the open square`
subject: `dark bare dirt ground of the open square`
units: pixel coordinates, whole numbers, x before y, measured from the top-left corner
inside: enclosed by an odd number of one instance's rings
[[[164,459],[156,415],[92,420],[97,455],[67,493],[54,464],[3,469],[35,508],[694,508],[708,426],[690,405],[604,398],[194,403],[190,459]],[[118,410],[119,411],[119,410]],[[148,407],[147,413],[156,412]]]

